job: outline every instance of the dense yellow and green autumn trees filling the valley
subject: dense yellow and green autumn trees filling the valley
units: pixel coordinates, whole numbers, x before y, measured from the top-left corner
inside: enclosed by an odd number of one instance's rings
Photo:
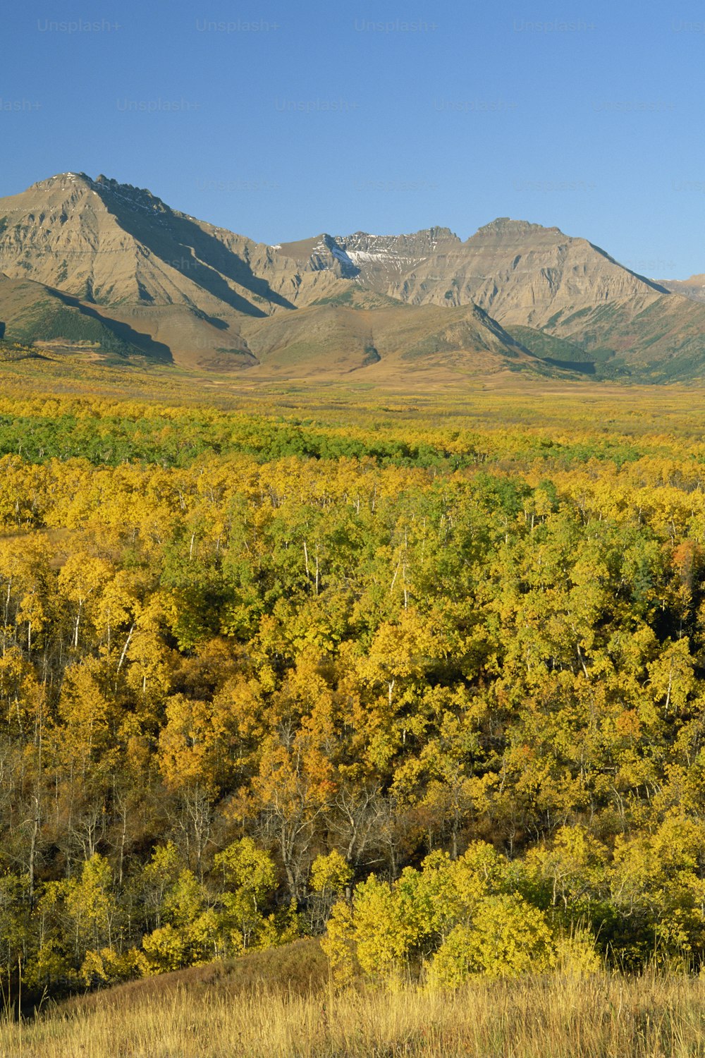
[[[122,451],[99,407],[44,411]],[[203,418],[132,418],[144,461],[31,431],[0,459],[5,997],[331,914],[342,979],[700,965],[694,451],[546,467],[517,432],[441,473],[218,451],[258,420]]]

